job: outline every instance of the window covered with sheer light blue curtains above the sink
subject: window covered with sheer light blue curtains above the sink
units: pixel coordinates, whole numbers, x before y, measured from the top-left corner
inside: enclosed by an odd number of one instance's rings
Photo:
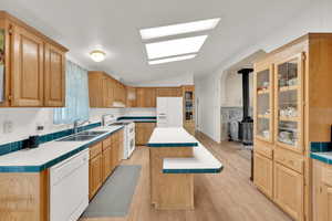
[[[54,124],[89,119],[87,71],[66,61],[65,80],[65,107],[54,108]]]

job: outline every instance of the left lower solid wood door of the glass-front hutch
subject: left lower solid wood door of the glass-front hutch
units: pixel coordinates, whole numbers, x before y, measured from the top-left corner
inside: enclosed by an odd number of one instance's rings
[[[255,167],[253,183],[268,197],[273,196],[273,162],[271,159],[259,154],[253,155]]]

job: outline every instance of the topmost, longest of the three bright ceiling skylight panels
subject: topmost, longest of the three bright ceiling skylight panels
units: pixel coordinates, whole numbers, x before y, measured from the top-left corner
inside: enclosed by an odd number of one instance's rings
[[[156,27],[139,30],[143,40],[156,39],[162,36],[170,36],[176,34],[185,34],[190,32],[211,30],[217,27],[220,18],[207,19],[187,23],[172,24],[167,27]]]

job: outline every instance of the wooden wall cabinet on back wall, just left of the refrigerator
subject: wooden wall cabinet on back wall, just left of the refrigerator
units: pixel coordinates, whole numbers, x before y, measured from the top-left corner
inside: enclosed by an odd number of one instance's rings
[[[156,107],[156,88],[137,87],[136,88],[137,107]]]

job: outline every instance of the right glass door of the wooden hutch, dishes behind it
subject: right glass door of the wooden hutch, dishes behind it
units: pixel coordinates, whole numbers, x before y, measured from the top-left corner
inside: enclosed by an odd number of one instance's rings
[[[303,55],[297,54],[276,64],[276,143],[302,151]]]

